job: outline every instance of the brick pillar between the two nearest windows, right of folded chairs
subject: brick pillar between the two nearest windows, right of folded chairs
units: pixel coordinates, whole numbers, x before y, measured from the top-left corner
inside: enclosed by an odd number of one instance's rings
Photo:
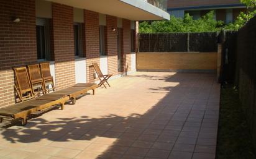
[[[75,84],[73,7],[52,4],[53,53],[57,89]]]

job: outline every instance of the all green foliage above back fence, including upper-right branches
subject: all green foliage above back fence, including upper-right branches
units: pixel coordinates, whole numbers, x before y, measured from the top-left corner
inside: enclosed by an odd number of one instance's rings
[[[246,12],[240,12],[233,23],[224,25],[224,22],[214,19],[214,11],[194,20],[189,14],[183,19],[170,17],[170,20],[142,22],[139,25],[140,33],[170,33],[170,32],[216,32],[219,30],[238,30],[256,15],[256,0],[240,0],[246,6]]]

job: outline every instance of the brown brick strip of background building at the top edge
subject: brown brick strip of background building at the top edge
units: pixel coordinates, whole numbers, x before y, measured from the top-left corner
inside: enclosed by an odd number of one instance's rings
[[[191,7],[191,6],[211,6],[211,5],[224,5],[224,4],[240,4],[239,0],[168,0],[167,8],[175,7]]]

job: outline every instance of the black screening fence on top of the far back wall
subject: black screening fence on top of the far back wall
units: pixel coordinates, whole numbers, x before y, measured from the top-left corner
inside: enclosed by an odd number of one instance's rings
[[[211,52],[217,51],[217,32],[141,33],[140,52]]]

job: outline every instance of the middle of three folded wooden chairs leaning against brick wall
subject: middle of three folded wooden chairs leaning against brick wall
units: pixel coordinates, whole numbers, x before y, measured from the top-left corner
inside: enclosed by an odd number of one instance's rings
[[[39,96],[40,94],[45,93],[46,90],[43,85],[39,64],[29,65],[27,68],[29,71],[29,78],[34,95]]]

